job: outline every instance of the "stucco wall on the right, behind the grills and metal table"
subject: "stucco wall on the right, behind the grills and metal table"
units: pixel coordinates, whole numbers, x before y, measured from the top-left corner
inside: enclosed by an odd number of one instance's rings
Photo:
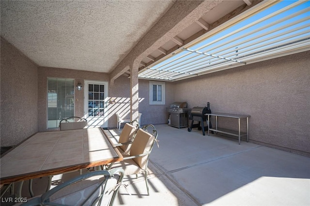
[[[182,80],[174,87],[174,99],[186,100],[189,107],[210,102],[213,113],[250,115],[251,141],[310,154],[310,51]],[[236,125],[219,122],[235,130]]]

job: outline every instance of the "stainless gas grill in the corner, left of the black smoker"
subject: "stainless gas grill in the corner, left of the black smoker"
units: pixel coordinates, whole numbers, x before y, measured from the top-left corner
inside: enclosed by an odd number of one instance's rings
[[[170,126],[172,127],[187,127],[187,103],[186,102],[174,102],[167,108],[167,112],[170,113]]]

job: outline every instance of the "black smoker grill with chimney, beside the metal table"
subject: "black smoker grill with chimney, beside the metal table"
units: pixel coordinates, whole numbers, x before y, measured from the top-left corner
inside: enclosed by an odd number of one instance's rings
[[[205,114],[211,114],[210,103],[207,103],[207,107],[193,107],[188,115],[189,119],[192,121],[187,131],[191,132],[192,128],[198,128],[198,130],[202,129],[202,135],[205,135],[204,131],[208,130],[208,126],[212,128],[211,121],[208,124],[207,116]],[[198,121],[198,123],[194,124],[194,121]],[[204,121],[206,122],[206,126],[203,124]]]

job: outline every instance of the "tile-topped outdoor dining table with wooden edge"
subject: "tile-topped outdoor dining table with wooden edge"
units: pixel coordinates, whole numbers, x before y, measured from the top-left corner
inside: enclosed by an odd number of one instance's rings
[[[58,175],[122,161],[102,128],[38,132],[0,162],[0,184]]]

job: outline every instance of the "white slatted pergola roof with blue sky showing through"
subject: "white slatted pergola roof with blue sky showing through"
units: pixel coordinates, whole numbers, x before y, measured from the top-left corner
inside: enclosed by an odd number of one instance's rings
[[[310,2],[272,1],[250,9],[140,70],[176,81],[310,49]]]

